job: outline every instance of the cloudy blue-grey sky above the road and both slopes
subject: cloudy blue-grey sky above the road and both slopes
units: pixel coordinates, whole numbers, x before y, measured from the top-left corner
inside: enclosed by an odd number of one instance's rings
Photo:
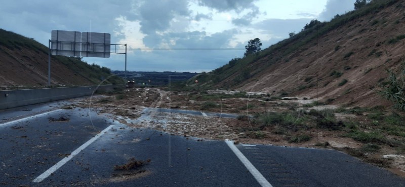
[[[106,32],[128,44],[128,70],[211,71],[242,57],[245,45],[262,49],[312,19],[329,21],[353,10],[355,0],[18,0],[0,7],[0,28],[48,46],[51,30]],[[84,58],[124,70],[125,55]]]

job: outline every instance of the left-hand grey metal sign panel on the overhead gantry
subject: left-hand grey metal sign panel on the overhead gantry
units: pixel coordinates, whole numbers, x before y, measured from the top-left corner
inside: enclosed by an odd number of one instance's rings
[[[51,54],[80,56],[80,32],[52,30]]]

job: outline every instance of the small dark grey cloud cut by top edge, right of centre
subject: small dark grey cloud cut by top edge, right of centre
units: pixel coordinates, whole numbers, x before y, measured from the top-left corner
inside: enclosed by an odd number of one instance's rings
[[[255,2],[255,0],[198,0],[198,5],[216,9],[219,12],[231,10],[240,12],[255,7],[253,2]]]

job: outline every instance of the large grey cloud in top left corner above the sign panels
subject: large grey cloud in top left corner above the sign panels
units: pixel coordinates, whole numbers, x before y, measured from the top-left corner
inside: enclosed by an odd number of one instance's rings
[[[0,6],[0,25],[48,45],[51,30],[111,32],[114,17],[135,16],[131,2],[98,1],[10,1]],[[117,39],[119,40],[119,39]]]

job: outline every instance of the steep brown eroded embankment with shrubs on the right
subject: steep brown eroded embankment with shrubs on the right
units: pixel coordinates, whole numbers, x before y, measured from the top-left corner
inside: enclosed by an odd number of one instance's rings
[[[404,7],[403,1],[375,1],[197,79],[216,88],[387,105],[375,88],[387,77],[385,68],[403,60]]]

